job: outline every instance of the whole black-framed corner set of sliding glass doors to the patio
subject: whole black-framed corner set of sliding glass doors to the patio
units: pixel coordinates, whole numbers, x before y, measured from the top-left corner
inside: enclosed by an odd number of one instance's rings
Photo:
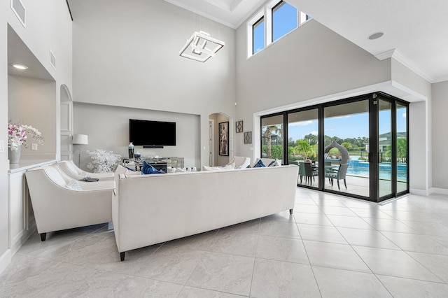
[[[382,201],[409,192],[408,105],[374,93],[261,119],[262,157],[297,164],[300,187]]]

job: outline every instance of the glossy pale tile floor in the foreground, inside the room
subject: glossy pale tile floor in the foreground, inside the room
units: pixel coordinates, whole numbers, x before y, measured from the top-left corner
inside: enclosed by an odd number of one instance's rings
[[[448,197],[384,205],[297,188],[288,211],[132,250],[111,225],[34,234],[0,297],[448,297]]]

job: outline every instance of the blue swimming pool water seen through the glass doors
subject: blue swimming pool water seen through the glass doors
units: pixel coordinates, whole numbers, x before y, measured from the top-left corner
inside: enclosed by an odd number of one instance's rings
[[[347,169],[347,175],[368,177],[369,176],[369,163],[361,160],[349,160],[349,168]],[[379,164],[379,178],[391,179],[391,163],[381,162]],[[397,180],[406,181],[407,179],[407,164],[397,165]]]

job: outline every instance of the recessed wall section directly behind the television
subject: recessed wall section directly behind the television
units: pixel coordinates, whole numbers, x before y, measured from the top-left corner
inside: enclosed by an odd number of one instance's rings
[[[85,150],[111,150],[127,158],[130,119],[176,122],[176,146],[159,149],[135,146],[134,152],[139,151],[142,157],[183,157],[185,166],[200,167],[199,115],[84,103],[75,103],[73,111],[74,134],[87,134],[89,137],[89,144],[82,147],[81,155],[81,168],[86,171],[90,171],[86,165],[91,159]],[[78,160],[78,146],[73,146],[73,157]]]

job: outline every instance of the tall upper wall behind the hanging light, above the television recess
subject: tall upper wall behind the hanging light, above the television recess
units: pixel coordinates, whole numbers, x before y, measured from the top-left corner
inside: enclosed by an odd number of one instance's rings
[[[72,3],[73,101],[200,115],[208,164],[208,116],[236,113],[235,30],[162,0]],[[224,48],[204,63],[179,57],[200,30]]]

